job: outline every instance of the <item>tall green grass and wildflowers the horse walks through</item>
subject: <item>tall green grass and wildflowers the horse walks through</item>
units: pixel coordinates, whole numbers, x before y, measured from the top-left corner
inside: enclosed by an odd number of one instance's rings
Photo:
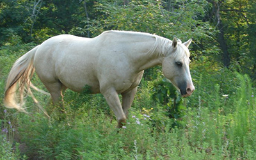
[[[15,54],[3,52],[4,79]],[[0,103],[0,159],[256,159],[256,92],[250,78],[194,68],[196,91],[182,101],[186,108],[180,118],[170,118],[167,104],[152,99],[152,83],[143,80],[123,129],[115,128],[102,95],[67,91],[63,116],[47,105],[49,97],[36,94],[50,119],[29,97],[29,115]],[[4,80],[0,91],[4,93]]]

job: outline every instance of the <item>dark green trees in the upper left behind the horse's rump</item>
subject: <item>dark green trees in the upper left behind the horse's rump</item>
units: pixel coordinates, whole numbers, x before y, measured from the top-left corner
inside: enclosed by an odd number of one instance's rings
[[[85,5],[86,4],[86,5]],[[19,35],[23,42],[40,43],[60,34],[77,32],[85,20],[90,20],[94,2],[67,0],[3,0],[0,3],[0,44],[8,42],[12,35]],[[86,10],[86,12],[85,12]]]

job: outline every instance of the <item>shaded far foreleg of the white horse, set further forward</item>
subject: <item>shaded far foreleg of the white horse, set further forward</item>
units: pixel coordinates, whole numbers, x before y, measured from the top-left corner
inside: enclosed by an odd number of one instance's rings
[[[132,102],[134,100],[135,94],[137,93],[137,89],[138,87],[135,87],[129,92],[122,93],[122,106],[126,117],[128,116],[128,109],[132,106]]]

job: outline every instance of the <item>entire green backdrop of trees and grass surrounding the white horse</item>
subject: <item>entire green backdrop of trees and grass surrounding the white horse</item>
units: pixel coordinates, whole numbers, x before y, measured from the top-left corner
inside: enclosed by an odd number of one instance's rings
[[[1,0],[0,159],[256,159],[255,0]],[[102,95],[65,93],[66,113],[36,93],[29,114],[3,107],[13,63],[47,38],[109,29],[193,38],[195,93],[146,70],[125,129]],[[45,90],[36,75],[33,83]]]

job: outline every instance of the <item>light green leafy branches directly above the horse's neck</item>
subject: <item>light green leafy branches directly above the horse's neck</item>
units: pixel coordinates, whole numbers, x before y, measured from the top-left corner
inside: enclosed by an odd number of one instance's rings
[[[200,40],[211,38],[211,27],[198,19],[205,13],[207,1],[173,1],[172,10],[165,10],[163,1],[130,1],[126,5],[115,1],[99,1],[97,9],[103,12],[99,17],[102,30],[119,29],[143,31],[172,39],[192,38]],[[209,36],[211,35],[211,36]],[[209,46],[210,47],[210,46]]]

